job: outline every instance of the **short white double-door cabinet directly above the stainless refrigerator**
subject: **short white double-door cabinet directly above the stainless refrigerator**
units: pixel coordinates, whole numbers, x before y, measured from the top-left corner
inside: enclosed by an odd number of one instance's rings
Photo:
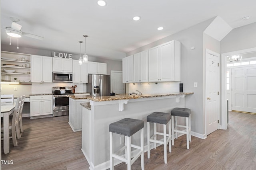
[[[88,61],[88,74],[107,74],[107,64]]]

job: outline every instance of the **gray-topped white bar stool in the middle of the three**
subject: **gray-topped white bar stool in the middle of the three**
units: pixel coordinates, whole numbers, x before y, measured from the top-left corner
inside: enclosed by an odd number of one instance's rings
[[[171,140],[171,114],[163,112],[154,112],[147,116],[147,127],[148,127],[148,158],[150,158],[150,142],[154,143],[154,148],[156,149],[156,143],[164,145],[164,163],[167,164],[167,145],[169,143],[169,152],[172,152]],[[150,137],[150,123],[154,123],[154,135]],[[164,125],[164,133],[156,131],[156,123]],[[168,123],[168,134],[166,134],[166,124]],[[156,135],[164,136],[164,141],[156,140]],[[168,138],[166,139],[166,136]],[[154,139],[153,139],[154,138]]]

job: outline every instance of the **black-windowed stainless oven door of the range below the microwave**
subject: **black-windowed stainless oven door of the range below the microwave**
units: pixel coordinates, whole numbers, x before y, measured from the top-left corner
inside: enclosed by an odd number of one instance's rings
[[[69,109],[68,95],[53,95],[53,110]]]

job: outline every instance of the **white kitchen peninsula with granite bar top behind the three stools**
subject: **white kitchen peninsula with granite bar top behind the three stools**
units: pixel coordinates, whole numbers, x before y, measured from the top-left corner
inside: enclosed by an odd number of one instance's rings
[[[123,118],[141,119],[144,121],[144,147],[147,145],[146,117],[154,111],[169,112],[174,107],[186,107],[185,97],[193,92],[116,95],[92,97],[90,104],[80,104],[82,107],[82,152],[90,164],[90,170],[108,169],[109,131],[110,123]],[[151,132],[153,133],[153,131]],[[140,134],[135,134],[132,143],[139,145]],[[122,137],[114,135],[114,150],[124,145]],[[146,151],[146,150],[145,150]],[[118,164],[118,161],[115,161]]]

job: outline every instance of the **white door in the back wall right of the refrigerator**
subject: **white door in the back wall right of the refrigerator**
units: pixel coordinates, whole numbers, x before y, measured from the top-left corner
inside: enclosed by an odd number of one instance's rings
[[[111,71],[111,92],[124,94],[123,73],[120,71]]]

